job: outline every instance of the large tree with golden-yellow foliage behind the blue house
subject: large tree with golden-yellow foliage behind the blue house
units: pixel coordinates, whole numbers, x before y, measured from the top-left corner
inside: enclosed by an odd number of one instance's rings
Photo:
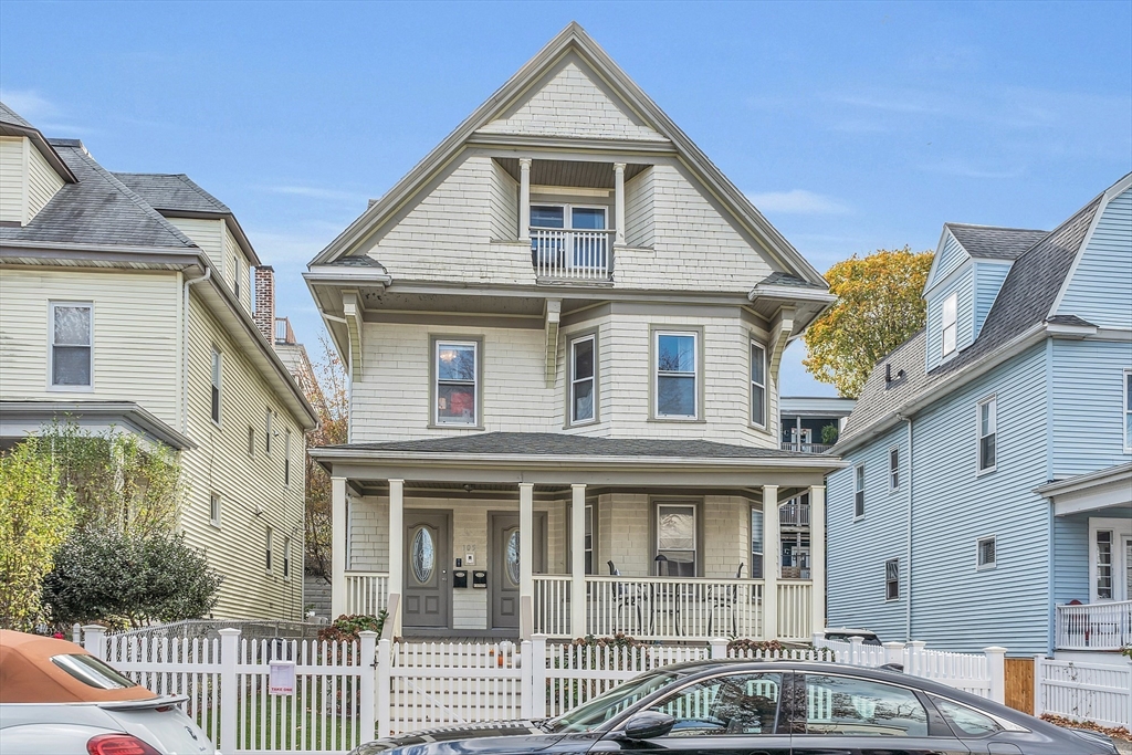
[[[921,294],[933,257],[909,247],[878,249],[831,267],[825,280],[838,301],[806,331],[803,366],[856,398],[873,366],[924,327]]]

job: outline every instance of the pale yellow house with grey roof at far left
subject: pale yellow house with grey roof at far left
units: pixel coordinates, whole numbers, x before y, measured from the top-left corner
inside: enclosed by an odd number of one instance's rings
[[[259,259],[185,175],[111,173],[0,105],[0,444],[53,418],[178,451],[217,618],[302,615],[315,415],[252,321]]]

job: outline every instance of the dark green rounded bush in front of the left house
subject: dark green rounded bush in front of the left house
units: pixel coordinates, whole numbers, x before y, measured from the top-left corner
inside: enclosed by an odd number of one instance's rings
[[[183,535],[89,525],[75,530],[55,554],[43,578],[43,604],[59,624],[139,627],[207,615],[220,583]]]

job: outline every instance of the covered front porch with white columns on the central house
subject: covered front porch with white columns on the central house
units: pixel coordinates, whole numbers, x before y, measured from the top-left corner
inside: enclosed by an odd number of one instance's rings
[[[410,445],[315,452],[332,469],[335,616],[386,609],[398,636],[807,641],[824,627],[821,482],[837,460],[434,451],[426,463],[391,447]]]

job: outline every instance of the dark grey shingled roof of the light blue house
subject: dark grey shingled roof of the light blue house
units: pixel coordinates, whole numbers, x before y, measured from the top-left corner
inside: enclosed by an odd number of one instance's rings
[[[877,362],[857,400],[857,407],[846,422],[834,453],[843,453],[857,445],[871,430],[883,427],[886,419],[920,400],[943,395],[942,384],[958,372],[988,361],[1032,328],[1049,321],[1050,306],[1088,237],[1103,198],[1104,195],[1095,198],[1017,256],[978,337],[970,346],[927,372],[926,335],[920,331]],[[1009,239],[1007,251],[1003,254],[1013,254],[1018,234],[1010,233],[1003,238]],[[890,377],[893,378],[891,381],[886,379]]]

